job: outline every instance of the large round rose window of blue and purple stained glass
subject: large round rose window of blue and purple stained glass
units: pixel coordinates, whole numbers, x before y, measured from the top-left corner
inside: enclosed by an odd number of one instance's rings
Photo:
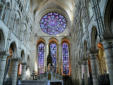
[[[66,19],[59,13],[49,12],[41,18],[40,27],[43,32],[56,35],[65,30]]]

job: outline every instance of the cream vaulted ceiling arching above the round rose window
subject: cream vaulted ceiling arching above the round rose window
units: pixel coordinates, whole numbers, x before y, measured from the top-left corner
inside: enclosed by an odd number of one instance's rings
[[[75,0],[31,0],[31,6],[34,14],[44,10],[45,8],[57,7],[64,9],[72,21],[75,10]]]

